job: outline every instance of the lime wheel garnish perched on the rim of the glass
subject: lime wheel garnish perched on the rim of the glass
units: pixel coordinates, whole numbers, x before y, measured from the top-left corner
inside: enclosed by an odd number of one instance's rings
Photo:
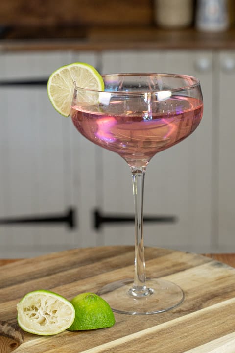
[[[48,79],[47,94],[53,107],[67,117],[70,115],[74,84],[90,90],[104,90],[102,76],[89,64],[77,62],[55,70]]]

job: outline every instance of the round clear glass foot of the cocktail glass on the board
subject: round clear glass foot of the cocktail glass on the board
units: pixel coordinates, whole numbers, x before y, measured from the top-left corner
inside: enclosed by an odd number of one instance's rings
[[[139,296],[132,289],[133,279],[105,285],[97,293],[121,314],[150,315],[171,310],[184,301],[184,292],[176,284],[159,278],[146,280],[147,294]]]

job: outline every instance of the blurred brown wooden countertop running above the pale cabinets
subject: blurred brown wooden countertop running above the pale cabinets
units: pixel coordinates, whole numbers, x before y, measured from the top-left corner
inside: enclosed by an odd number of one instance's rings
[[[161,30],[145,27],[49,27],[6,28],[0,50],[233,50],[235,28],[203,33],[194,28]]]

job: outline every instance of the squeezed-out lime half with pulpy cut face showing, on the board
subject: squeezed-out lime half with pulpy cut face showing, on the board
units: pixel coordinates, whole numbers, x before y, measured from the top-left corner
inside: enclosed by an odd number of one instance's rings
[[[27,293],[17,304],[17,311],[18,324],[24,331],[43,336],[66,330],[75,318],[72,304],[47,290]]]

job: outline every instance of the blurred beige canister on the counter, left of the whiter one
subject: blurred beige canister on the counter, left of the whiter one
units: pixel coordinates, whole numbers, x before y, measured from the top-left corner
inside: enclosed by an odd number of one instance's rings
[[[155,0],[154,17],[162,28],[188,27],[193,20],[193,0]]]

